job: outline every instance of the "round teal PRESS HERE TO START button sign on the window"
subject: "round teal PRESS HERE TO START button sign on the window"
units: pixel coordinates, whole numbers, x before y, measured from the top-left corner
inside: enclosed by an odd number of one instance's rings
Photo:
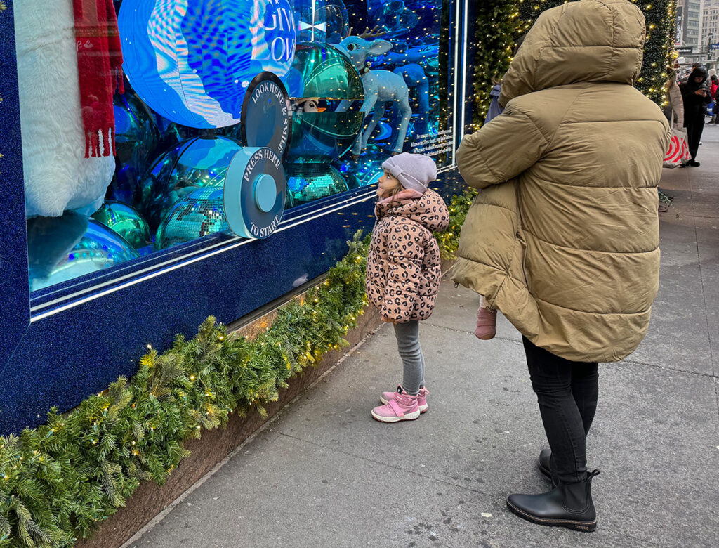
[[[266,238],[285,212],[287,181],[277,152],[243,148],[232,158],[224,183],[224,210],[232,232]]]

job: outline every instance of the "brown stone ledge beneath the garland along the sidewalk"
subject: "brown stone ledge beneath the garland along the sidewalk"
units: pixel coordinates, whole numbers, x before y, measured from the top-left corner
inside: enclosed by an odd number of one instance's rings
[[[271,313],[270,313],[271,314]],[[267,321],[266,317],[257,322]],[[254,323],[254,322],[253,322]],[[347,333],[345,339],[350,346],[343,350],[328,352],[324,359],[316,366],[304,370],[301,375],[290,379],[290,387],[280,391],[280,399],[265,406],[269,417],[277,414],[298,394],[305,391],[311,383],[328,371],[344,352],[362,339],[367,337],[382,323],[377,310],[368,306],[365,314],[357,319],[357,327]],[[240,329],[244,332],[244,329]],[[252,412],[244,418],[232,414],[225,429],[203,431],[201,439],[191,439],[184,447],[192,451],[192,455],[180,462],[177,470],[168,478],[165,485],[156,485],[145,482],[127,501],[127,506],[120,508],[114,516],[104,521],[90,539],[81,539],[75,544],[78,548],[117,548],[142,529],[158,513],[175,501],[203,475],[209,472],[214,465],[229,455],[242,442],[250,437],[257,429],[265,424],[257,412]]]

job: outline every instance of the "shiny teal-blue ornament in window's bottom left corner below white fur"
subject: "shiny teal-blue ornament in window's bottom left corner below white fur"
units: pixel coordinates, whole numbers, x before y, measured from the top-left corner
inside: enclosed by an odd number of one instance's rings
[[[99,272],[139,254],[101,222],[66,211],[60,217],[27,219],[30,291]]]

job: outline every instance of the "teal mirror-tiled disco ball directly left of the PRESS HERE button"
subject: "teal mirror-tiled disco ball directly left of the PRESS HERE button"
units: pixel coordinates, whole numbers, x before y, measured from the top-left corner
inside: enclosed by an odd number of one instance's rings
[[[164,250],[208,234],[229,229],[224,213],[224,188],[199,188],[176,202],[155,235],[155,247]]]

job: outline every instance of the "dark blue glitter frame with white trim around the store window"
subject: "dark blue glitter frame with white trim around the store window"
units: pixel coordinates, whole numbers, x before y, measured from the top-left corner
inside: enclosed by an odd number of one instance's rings
[[[45,421],[132,375],[147,344],[166,348],[214,314],[232,322],[326,272],[357,229],[371,229],[372,188],[298,206],[272,237],[214,234],[148,257],[30,293],[13,4],[0,14],[0,434]],[[450,83],[456,148],[471,123],[473,19],[469,0],[450,1]],[[433,185],[461,191],[457,170]],[[324,239],[317,234],[326,234]],[[270,275],[263,275],[270,273]],[[300,274],[300,275],[298,275]]]

